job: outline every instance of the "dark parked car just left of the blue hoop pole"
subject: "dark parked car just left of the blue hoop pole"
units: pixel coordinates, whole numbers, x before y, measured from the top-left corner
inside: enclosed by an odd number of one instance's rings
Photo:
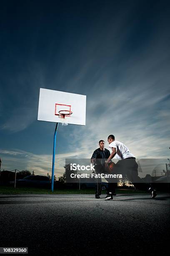
[[[23,179],[16,180],[16,186],[22,187],[49,187],[50,188],[50,179],[47,176],[42,175],[28,175]],[[10,182],[10,184],[14,184]]]

